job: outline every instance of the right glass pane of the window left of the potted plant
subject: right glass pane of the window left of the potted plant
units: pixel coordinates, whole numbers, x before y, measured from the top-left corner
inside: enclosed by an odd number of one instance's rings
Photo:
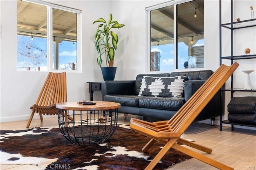
[[[77,70],[76,49],[76,13],[52,10],[53,31],[53,68],[59,70]]]

